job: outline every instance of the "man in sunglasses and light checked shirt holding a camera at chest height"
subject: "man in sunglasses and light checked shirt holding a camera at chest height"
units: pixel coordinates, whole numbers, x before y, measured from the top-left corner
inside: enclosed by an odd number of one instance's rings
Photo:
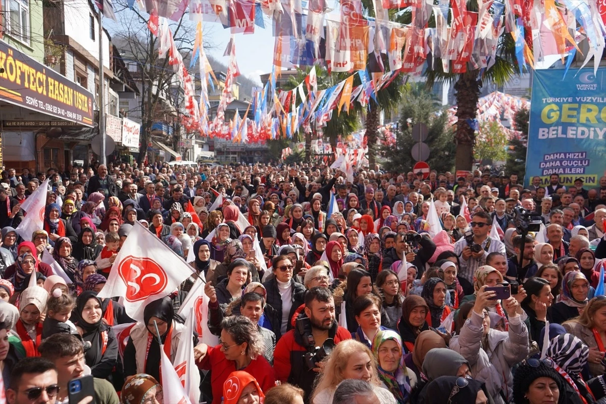
[[[473,282],[476,269],[486,263],[490,253],[505,255],[505,245],[499,239],[490,237],[492,218],[484,211],[477,211],[471,216],[471,230],[454,243],[454,253],[461,257],[459,276]]]

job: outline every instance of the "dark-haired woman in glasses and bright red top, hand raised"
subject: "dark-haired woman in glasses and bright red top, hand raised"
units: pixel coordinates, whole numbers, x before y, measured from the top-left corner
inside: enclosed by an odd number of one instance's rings
[[[265,392],[276,376],[263,357],[263,345],[257,326],[247,317],[231,316],[221,323],[221,343],[215,347],[201,343],[194,348],[198,367],[211,372],[213,404],[220,404],[223,384],[232,372],[243,370],[253,376]]]

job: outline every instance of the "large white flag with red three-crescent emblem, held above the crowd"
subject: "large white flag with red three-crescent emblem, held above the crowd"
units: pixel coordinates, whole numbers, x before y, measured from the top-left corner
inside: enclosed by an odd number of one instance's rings
[[[184,259],[135,222],[99,297],[122,297],[128,316],[143,321],[148,303],[173,293],[193,273]]]

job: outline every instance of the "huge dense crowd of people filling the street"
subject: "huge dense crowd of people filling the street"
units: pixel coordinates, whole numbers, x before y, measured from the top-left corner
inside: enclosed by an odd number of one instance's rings
[[[92,375],[96,403],[163,403],[161,349],[174,360],[188,339],[199,403],[606,402],[606,177],[586,189],[379,167],[350,182],[324,164],[1,174],[0,402],[67,403],[70,380]],[[47,178],[43,225],[20,235]],[[135,222],[193,268],[142,321],[98,296]],[[198,278],[219,345],[177,314]]]

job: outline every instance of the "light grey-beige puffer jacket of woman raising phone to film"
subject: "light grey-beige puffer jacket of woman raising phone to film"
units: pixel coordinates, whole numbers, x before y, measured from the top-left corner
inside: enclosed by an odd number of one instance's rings
[[[471,311],[449,346],[468,360],[471,376],[486,383],[494,403],[505,404],[513,399],[511,368],[528,356],[528,329],[520,316],[510,317],[509,331],[490,329],[482,346],[482,320],[484,317]]]

